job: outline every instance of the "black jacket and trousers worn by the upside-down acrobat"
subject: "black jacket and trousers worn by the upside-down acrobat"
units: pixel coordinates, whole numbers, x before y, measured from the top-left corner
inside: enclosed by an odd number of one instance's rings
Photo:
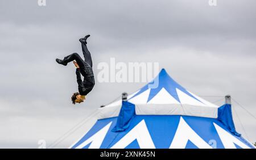
[[[66,57],[64,57],[64,62],[68,63],[76,60],[79,68],[76,69],[76,79],[79,88],[80,95],[87,95],[90,91],[92,91],[93,86],[95,84],[94,75],[92,70],[92,57],[90,56],[90,52],[84,43],[82,44],[82,53],[84,54],[85,60],[79,56],[78,53],[72,53]],[[84,81],[81,79],[81,74],[84,77]]]

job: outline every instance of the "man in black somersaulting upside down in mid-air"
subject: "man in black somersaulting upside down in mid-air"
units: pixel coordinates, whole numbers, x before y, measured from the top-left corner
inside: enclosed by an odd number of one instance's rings
[[[92,91],[94,82],[94,75],[92,70],[92,57],[86,46],[90,35],[86,35],[84,38],[81,38],[79,41],[82,44],[82,53],[84,54],[84,60],[77,53],[72,53],[63,60],[56,58],[58,64],[67,66],[68,62],[73,61],[73,64],[76,66],[76,78],[78,83],[79,92],[73,93],[71,100],[73,104],[84,102],[85,96]],[[81,79],[81,74],[84,77],[84,81]]]

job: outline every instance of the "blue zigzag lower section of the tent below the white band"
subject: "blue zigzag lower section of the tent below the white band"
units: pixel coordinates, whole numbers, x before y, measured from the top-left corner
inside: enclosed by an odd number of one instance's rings
[[[108,125],[110,122],[112,122],[112,125],[109,128],[108,133],[106,133],[105,139],[101,144],[100,148],[111,148],[115,143],[117,143],[123,136],[125,136],[131,129],[135,127],[139,122],[144,120],[147,125],[148,132],[150,133],[150,136],[152,138],[152,141],[154,142],[155,148],[169,148],[171,145],[171,142],[174,138],[174,135],[176,133],[177,126],[179,124],[180,120],[179,115],[177,116],[158,116],[158,115],[136,115],[133,117],[133,119],[130,121],[129,128],[124,130],[123,132],[113,132],[112,129],[117,125],[117,117],[113,117],[110,119],[102,119],[98,120],[94,127],[89,130],[87,134],[79,141],[76,145],[74,145],[72,148],[76,148],[76,146],[80,145],[82,142],[87,140],[89,137],[91,137],[93,134],[97,133],[98,130]],[[216,148],[224,148],[224,145],[222,144],[220,137],[218,136],[218,133],[213,125],[213,123],[216,123],[221,128],[224,128],[227,132],[229,132],[228,129],[226,129],[225,125],[222,124],[217,119],[212,118],[205,118],[205,117],[192,117],[192,116],[182,116],[185,122],[191,127],[205,142],[209,142],[210,140],[216,141]],[[249,144],[246,140],[244,140],[242,137],[236,136],[235,134],[229,132],[234,137],[238,138],[238,140],[245,143],[250,148],[253,148],[251,144]],[[138,148],[138,142],[132,142],[130,145],[126,146],[126,148]],[[84,148],[88,148],[88,145],[86,145]],[[187,148],[197,148],[195,145],[187,144]]]

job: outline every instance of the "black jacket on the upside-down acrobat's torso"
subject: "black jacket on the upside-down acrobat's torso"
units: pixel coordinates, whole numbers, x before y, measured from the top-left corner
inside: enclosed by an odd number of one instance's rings
[[[84,81],[81,79],[81,74],[84,77]],[[76,79],[80,95],[87,95],[92,91],[95,84],[92,68],[77,68]]]

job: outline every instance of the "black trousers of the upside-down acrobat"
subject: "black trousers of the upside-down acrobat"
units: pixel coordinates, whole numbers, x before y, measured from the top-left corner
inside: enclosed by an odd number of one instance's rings
[[[90,67],[92,67],[92,57],[90,56],[90,52],[89,52],[86,44],[84,44],[84,43],[81,43],[81,44],[82,44],[82,54],[84,54],[84,60],[82,60],[82,58],[79,56],[78,53],[72,53],[72,54],[69,54],[68,56],[64,57],[63,61],[65,63],[68,63],[68,62],[76,60],[76,62],[80,68],[85,68],[84,62],[86,62],[87,64],[90,65]]]

